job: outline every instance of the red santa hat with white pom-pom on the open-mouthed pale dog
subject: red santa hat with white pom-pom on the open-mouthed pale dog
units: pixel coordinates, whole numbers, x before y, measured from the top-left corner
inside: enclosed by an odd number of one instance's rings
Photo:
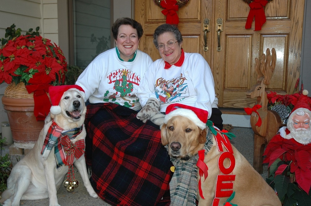
[[[52,106],[50,108],[50,112],[54,115],[60,114],[62,112],[62,108],[59,106],[59,102],[67,90],[76,90],[81,94],[83,100],[85,100],[85,92],[82,87],[78,85],[61,85],[61,86],[53,86],[49,87],[49,95],[52,102]]]

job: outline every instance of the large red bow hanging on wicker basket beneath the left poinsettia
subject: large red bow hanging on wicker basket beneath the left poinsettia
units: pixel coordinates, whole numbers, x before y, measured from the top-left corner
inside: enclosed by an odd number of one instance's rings
[[[44,121],[47,114],[49,114],[51,102],[47,92],[49,92],[49,87],[52,86],[50,84],[51,81],[52,78],[49,76],[42,73],[36,73],[33,75],[33,78],[29,79],[28,83],[30,84],[26,85],[29,94],[34,92],[34,114],[37,121]]]

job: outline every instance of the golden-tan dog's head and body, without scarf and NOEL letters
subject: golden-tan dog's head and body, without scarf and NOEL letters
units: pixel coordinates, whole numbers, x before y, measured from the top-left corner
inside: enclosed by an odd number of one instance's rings
[[[165,118],[164,124],[161,125],[161,141],[163,145],[168,145],[168,154],[171,157],[191,157],[197,155],[198,151],[204,148],[204,144],[207,141],[207,129],[198,127],[198,124],[192,121],[193,118],[191,115],[184,115],[183,110],[181,110]],[[201,180],[200,175],[198,175],[198,181],[201,181],[202,193],[205,198],[202,199],[199,193],[197,194],[200,206],[222,206],[228,199],[228,197],[222,197],[218,199],[218,204],[213,204],[213,201],[215,201],[217,175],[221,175],[222,173],[218,166],[218,161],[221,159],[221,152],[217,147],[215,135],[212,136],[212,147],[204,157],[204,163],[208,168],[205,181],[203,181],[205,178],[204,175]],[[227,151],[224,146],[222,146],[222,149],[223,151]],[[261,175],[254,170],[234,146],[232,146],[232,150],[234,156],[232,158],[235,159],[235,166],[230,174],[235,175],[235,180],[232,181],[233,189],[231,188],[235,191],[235,196],[230,202],[239,206],[281,206],[276,193]],[[232,163],[228,158],[223,160],[224,169],[230,168],[230,164]],[[226,184],[225,182],[222,183]]]

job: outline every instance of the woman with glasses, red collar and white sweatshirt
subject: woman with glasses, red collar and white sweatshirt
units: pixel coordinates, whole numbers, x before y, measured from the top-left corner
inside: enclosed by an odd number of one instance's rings
[[[180,103],[208,111],[210,119],[220,130],[223,128],[221,111],[215,95],[211,68],[202,55],[183,51],[179,29],[170,24],[156,28],[153,43],[161,59],[154,61],[138,87],[142,110],[137,118],[162,124],[168,105]]]

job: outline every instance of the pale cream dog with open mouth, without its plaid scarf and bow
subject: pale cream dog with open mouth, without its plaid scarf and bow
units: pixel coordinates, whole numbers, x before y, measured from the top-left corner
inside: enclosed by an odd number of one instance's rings
[[[70,88],[62,86],[56,87],[60,87],[60,89],[57,89],[58,92],[62,92],[64,88]],[[44,128],[41,130],[34,148],[25,155],[23,159],[16,163],[12,169],[7,180],[7,190],[2,193],[1,201],[3,202],[5,200],[4,206],[18,206],[20,205],[21,199],[44,198],[49,198],[49,206],[60,206],[56,193],[58,188],[63,184],[64,177],[68,172],[68,166],[63,164],[61,167],[57,168],[54,157],[54,147],[47,157],[41,155],[41,151],[52,120],[63,130],[80,128],[83,125],[86,106],[83,99],[85,94],[84,91],[82,92],[81,90],[83,91],[82,88],[80,90],[70,88],[65,90],[62,96],[62,93],[60,93],[60,113],[54,115],[51,110],[50,116],[45,119]],[[51,92],[50,96],[52,99]],[[81,133],[70,141],[72,143],[78,140],[84,141],[85,137],[86,131],[83,125]],[[79,159],[74,158],[74,165],[77,167],[88,193],[92,197],[97,198],[98,196],[92,188],[87,174],[84,154]]]

